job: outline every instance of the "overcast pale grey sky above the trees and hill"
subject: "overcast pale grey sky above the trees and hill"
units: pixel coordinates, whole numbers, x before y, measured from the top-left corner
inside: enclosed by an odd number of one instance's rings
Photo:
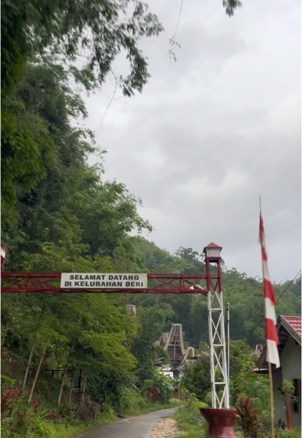
[[[242,1],[228,18],[220,0],[183,0],[176,63],[180,1],[149,1],[165,27],[141,43],[149,83],[130,99],[118,92],[105,112],[108,80],[85,99],[86,125],[108,151],[104,178],[142,198],[155,227],[146,237],[171,253],[213,241],[227,268],[261,277],[261,194],[279,282],[301,267],[301,2]]]

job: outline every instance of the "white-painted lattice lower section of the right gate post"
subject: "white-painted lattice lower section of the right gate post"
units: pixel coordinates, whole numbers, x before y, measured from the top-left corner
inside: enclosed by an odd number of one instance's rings
[[[208,293],[212,407],[229,408],[222,292]]]

